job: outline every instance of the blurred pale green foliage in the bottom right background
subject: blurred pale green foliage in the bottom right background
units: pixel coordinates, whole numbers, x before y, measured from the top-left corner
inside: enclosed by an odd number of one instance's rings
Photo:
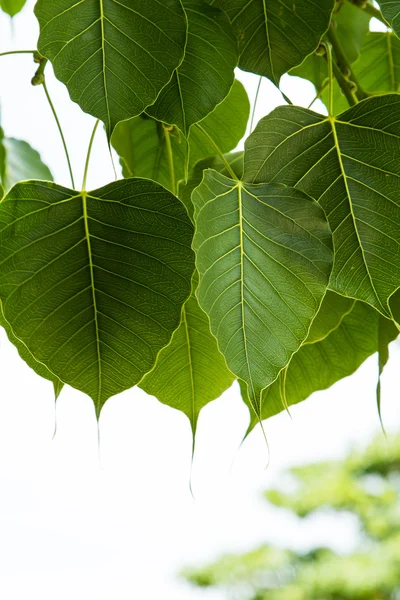
[[[360,526],[354,552],[316,547],[307,553],[261,546],[227,555],[183,575],[234,600],[398,600],[400,598],[400,437],[377,438],[343,461],[290,470],[290,492],[268,490],[275,506],[307,519],[346,511]]]

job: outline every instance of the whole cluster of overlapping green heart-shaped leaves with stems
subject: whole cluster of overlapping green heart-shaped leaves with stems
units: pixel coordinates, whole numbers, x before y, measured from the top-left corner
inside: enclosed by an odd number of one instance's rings
[[[400,2],[380,9],[36,2],[33,84],[49,98],[50,61],[123,174],[86,189],[94,130],[81,188],[64,188],[0,130],[1,324],[57,394],[72,385],[99,415],[139,385],[195,432],[238,379],[250,431],[375,352],[380,377],[400,323]],[[306,78],[325,107],[288,100],[235,151],[236,67]]]

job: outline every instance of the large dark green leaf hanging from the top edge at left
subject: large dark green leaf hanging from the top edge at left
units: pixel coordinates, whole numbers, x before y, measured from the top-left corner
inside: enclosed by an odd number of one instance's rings
[[[179,0],[38,0],[38,50],[71,99],[103,121],[152,104],[183,59],[187,24]]]

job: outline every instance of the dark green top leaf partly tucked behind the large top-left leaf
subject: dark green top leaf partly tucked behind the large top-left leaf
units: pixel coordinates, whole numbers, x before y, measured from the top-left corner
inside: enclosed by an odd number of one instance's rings
[[[228,95],[238,61],[236,38],[224,12],[203,0],[183,0],[188,18],[185,58],[147,113],[189,128],[206,117]]]

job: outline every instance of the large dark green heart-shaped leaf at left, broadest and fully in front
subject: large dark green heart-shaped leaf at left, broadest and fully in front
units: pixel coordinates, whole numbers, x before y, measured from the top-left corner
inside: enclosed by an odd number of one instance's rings
[[[104,402],[152,369],[178,327],[193,227],[158,184],[15,185],[0,204],[3,317],[37,361]]]

